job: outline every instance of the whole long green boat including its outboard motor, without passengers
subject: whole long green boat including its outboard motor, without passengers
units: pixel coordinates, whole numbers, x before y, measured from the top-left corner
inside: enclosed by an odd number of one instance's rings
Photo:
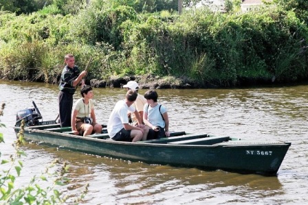
[[[251,141],[230,136],[188,134],[184,131],[172,132],[168,138],[137,143],[121,142],[109,138],[106,129],[101,134],[77,136],[72,134],[70,127],[61,128],[56,121],[39,121],[40,118],[35,104],[34,109],[17,112],[14,126],[16,134],[21,130],[21,119],[25,119],[24,138],[28,141],[155,165],[273,176],[291,145],[281,141]]]

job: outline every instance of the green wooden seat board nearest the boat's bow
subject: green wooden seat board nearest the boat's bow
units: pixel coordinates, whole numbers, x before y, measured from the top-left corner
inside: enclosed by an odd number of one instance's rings
[[[206,138],[188,139],[185,141],[175,141],[168,144],[173,145],[213,145],[230,140],[230,136],[210,136]]]

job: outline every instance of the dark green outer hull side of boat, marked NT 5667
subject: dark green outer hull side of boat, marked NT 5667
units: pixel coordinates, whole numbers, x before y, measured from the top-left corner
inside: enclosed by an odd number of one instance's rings
[[[19,127],[14,128],[18,133]],[[276,175],[291,143],[234,141],[212,145],[130,143],[25,128],[24,138],[72,151],[155,165]]]

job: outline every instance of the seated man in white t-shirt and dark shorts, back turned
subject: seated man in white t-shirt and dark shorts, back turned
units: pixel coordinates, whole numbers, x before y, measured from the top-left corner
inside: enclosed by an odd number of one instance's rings
[[[127,118],[128,111],[137,113],[137,110],[132,106],[136,99],[137,92],[129,90],[126,93],[125,99],[115,104],[107,124],[109,136],[113,140],[127,142],[146,140],[146,136],[148,136],[148,126],[142,125],[139,116],[137,117],[139,123],[137,126],[130,125],[129,119]]]

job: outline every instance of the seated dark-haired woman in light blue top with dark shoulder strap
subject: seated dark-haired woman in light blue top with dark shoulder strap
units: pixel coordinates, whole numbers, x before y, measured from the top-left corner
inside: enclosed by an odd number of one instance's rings
[[[143,109],[143,121],[150,127],[147,140],[170,136],[169,117],[164,106],[157,103],[156,91],[146,91],[144,94],[146,104]]]

